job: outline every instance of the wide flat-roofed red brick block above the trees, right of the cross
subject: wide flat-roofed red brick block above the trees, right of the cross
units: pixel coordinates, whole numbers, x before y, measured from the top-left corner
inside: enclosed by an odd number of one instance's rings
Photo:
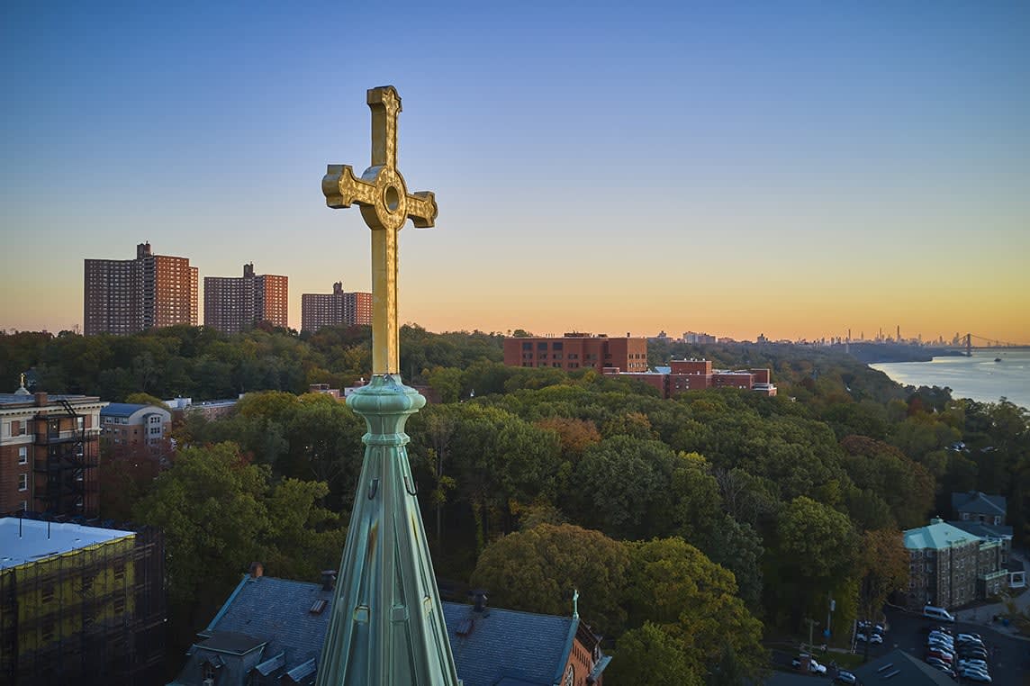
[[[565,371],[647,371],[647,339],[609,338],[604,334],[565,334],[561,338],[507,338],[505,364],[551,367]]]

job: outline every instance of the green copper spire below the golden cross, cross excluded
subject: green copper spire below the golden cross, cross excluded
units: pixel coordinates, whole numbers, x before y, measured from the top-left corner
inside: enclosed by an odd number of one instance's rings
[[[375,375],[347,405],[369,433],[317,684],[457,685],[405,448],[425,399]]]

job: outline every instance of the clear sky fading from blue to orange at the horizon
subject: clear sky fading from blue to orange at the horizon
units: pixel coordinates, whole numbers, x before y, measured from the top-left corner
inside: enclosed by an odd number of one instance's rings
[[[0,329],[82,261],[371,288],[325,207],[403,99],[431,331],[1030,343],[1030,3],[103,2],[0,9]],[[203,286],[202,286],[203,287]],[[203,303],[203,294],[201,295]]]

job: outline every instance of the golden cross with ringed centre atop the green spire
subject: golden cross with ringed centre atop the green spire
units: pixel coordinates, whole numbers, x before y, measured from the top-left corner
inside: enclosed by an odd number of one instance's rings
[[[427,229],[437,218],[430,191],[408,193],[397,168],[397,115],[401,96],[392,85],[370,89],[372,166],[360,178],[349,165],[329,165],[322,178],[325,204],[334,209],[357,203],[372,230],[372,373],[399,374],[397,321],[397,233],[408,217]]]

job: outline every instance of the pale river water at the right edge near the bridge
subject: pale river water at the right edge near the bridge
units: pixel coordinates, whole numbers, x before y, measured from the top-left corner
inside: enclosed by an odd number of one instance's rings
[[[881,363],[869,367],[903,385],[948,386],[953,398],[984,403],[997,403],[1005,397],[1030,408],[1030,349],[1027,348],[987,348],[973,350],[971,357],[934,357],[928,363]]]

